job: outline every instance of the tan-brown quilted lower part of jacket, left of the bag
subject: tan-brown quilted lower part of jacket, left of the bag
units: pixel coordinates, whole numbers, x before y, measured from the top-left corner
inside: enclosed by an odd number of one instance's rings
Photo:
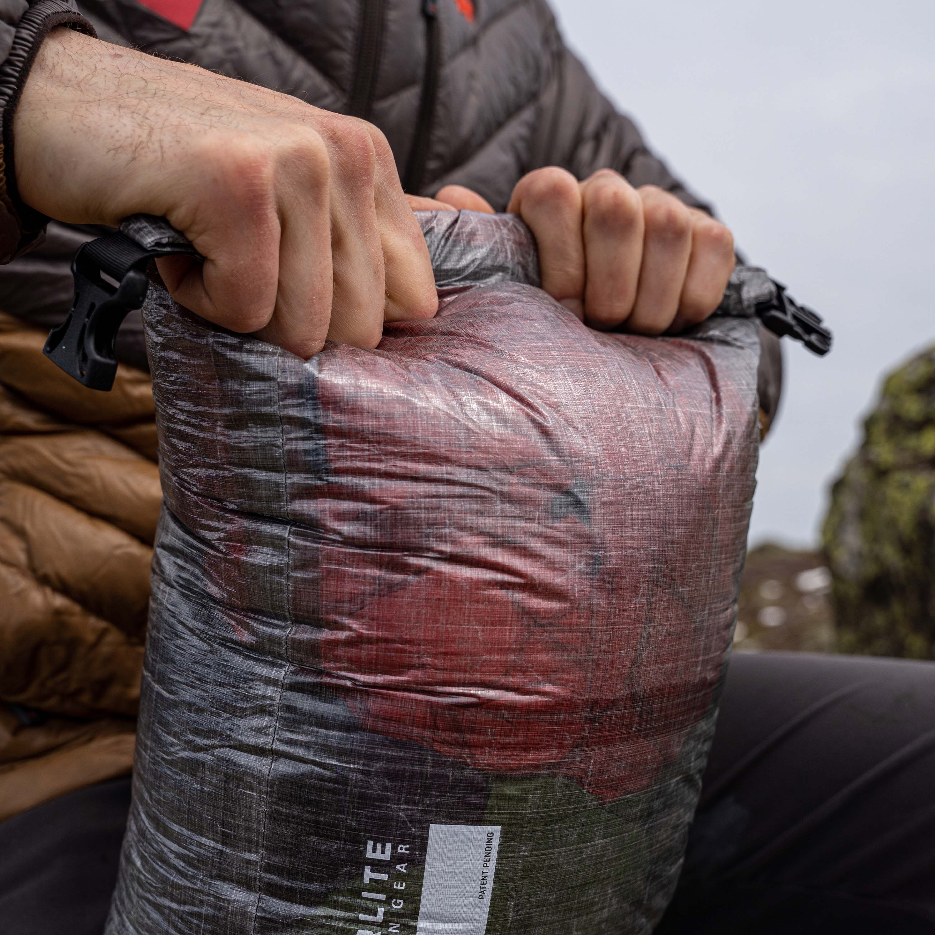
[[[162,494],[152,388],[0,313],[0,820],[130,771]]]

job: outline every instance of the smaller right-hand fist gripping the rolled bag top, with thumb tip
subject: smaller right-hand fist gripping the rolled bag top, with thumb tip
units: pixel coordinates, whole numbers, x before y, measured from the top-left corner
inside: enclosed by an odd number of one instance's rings
[[[436,199],[438,207],[493,210],[457,185]],[[724,224],[653,185],[635,189],[611,169],[583,182],[555,166],[537,169],[517,183],[508,210],[536,236],[542,288],[598,328],[659,335],[703,322],[734,268]]]

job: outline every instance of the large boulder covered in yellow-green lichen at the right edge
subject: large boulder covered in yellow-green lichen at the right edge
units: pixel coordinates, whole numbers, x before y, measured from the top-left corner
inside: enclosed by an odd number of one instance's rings
[[[823,539],[841,651],[935,658],[935,348],[885,381]]]

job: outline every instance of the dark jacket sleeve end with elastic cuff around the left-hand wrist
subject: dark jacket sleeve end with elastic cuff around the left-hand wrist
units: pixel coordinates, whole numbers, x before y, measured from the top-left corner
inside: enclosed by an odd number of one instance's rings
[[[44,215],[22,203],[13,165],[13,116],[42,40],[56,26],[94,36],[74,0],[0,0],[0,263],[41,239]]]

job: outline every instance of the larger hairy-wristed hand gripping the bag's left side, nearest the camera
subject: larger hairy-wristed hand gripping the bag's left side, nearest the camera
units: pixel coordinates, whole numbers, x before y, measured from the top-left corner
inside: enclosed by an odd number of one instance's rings
[[[59,221],[165,217],[205,257],[158,262],[211,322],[309,357],[375,347],[438,308],[422,231],[376,127],[67,29],[14,126],[23,201]]]

